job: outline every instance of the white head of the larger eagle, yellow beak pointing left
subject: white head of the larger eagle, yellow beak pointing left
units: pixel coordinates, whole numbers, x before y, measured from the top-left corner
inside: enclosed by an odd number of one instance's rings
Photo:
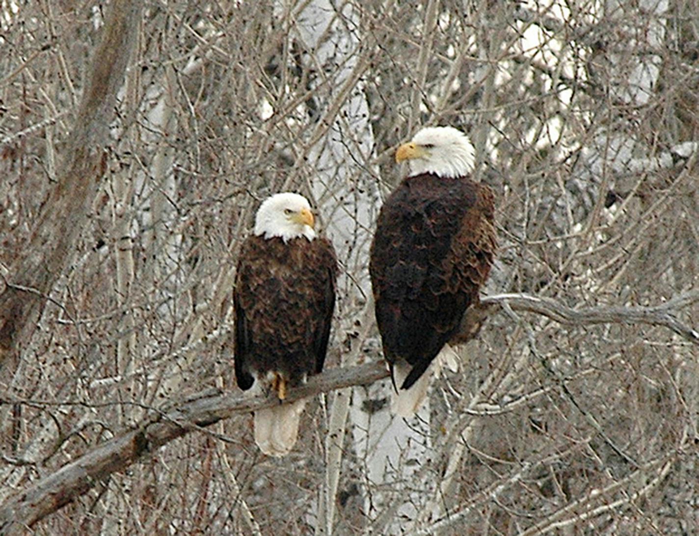
[[[452,126],[429,126],[396,151],[396,162],[408,160],[410,173],[434,173],[462,177],[473,171],[473,145],[466,134]]]

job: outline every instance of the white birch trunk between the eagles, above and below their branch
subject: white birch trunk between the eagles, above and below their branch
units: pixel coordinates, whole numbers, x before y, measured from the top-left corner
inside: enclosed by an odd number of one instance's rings
[[[309,152],[310,168],[314,173],[310,189],[326,223],[326,233],[333,240],[345,270],[338,282],[338,310],[343,321],[337,331],[343,338],[343,347],[350,349],[343,355],[344,366],[355,364],[350,361],[361,354],[356,348],[352,352],[352,346],[363,344],[363,337],[356,337],[354,333],[365,332],[366,322],[375,323],[368,254],[381,204],[376,181],[371,176],[376,173],[375,169],[361,166],[372,156],[373,133],[363,85],[357,80],[363,69],[363,57],[357,54],[360,36],[353,30],[358,27],[359,13],[353,6],[345,4],[338,13],[327,0],[310,2],[296,20],[305,50],[315,52],[314,67],[331,72],[332,76],[329,83],[317,91],[317,96],[324,99],[321,109],[325,110],[319,128],[323,125],[327,128],[321,136],[311,138],[317,141]],[[333,70],[331,66],[334,65],[340,67]],[[324,70],[324,67],[328,68]],[[363,490],[366,516],[375,519],[397,501],[401,504],[395,512],[398,516],[415,517],[414,503],[419,494],[408,498],[400,488],[404,482],[410,482],[411,488],[419,488],[412,477],[428,454],[430,410],[428,404],[424,405],[419,417],[411,419],[410,423],[392,417],[389,403],[377,411],[368,410],[370,406],[375,407],[373,401],[389,400],[391,389],[391,382],[386,380],[368,388],[354,389],[351,404],[349,390],[339,391],[332,397],[326,442],[328,475],[319,505],[318,534],[332,532],[348,412],[354,454],[363,465],[362,471],[366,471],[366,486],[373,488]],[[377,491],[378,486],[382,491]],[[391,532],[399,530],[399,524],[394,523]]]

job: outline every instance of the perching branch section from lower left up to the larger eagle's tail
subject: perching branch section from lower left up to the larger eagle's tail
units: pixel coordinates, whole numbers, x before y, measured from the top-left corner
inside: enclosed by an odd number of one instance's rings
[[[293,389],[288,402],[315,396],[343,387],[366,385],[388,376],[383,363],[368,363],[349,368],[327,370],[309,379],[308,384]],[[31,400],[34,405],[60,405]],[[134,430],[124,430],[113,439],[64,465],[31,487],[15,493],[0,507],[0,533],[23,533],[48,514],[56,512],[106,479],[113,472],[127,468],[139,458],[163,447],[193,430],[210,426],[236,413],[259,410],[278,404],[275,398],[226,395],[217,389],[192,396],[169,411],[154,410]]]

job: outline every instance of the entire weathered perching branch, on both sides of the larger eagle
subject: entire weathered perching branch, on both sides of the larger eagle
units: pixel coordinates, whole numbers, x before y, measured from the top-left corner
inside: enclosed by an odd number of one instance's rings
[[[691,291],[654,307],[586,307],[574,310],[549,298],[498,294],[483,298],[482,307],[476,316],[482,319],[493,308],[507,303],[513,310],[535,312],[562,324],[628,323],[666,326],[687,340],[699,344],[699,333],[672,316],[679,308],[697,300],[699,291]],[[470,331],[473,331],[473,325],[470,326]],[[309,379],[305,386],[291,391],[287,402],[345,387],[371,384],[387,376],[388,371],[383,363],[327,370]],[[0,401],[3,403],[62,405],[56,401],[2,398]],[[274,398],[226,395],[219,390],[212,390],[188,398],[174,410],[152,410],[150,417],[144,419],[138,428],[125,430],[52,475],[37,481],[26,491],[13,495],[0,507],[0,533],[19,533],[24,528],[31,527],[36,521],[87,493],[108,475],[124,470],[145,454],[178,437],[227,419],[233,414],[271,407],[276,403],[278,402]]]

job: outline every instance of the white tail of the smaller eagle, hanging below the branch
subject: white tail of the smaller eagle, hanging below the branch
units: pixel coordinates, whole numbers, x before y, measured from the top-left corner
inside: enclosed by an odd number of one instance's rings
[[[294,447],[305,399],[257,410],[254,417],[255,442],[267,456],[284,456]]]

